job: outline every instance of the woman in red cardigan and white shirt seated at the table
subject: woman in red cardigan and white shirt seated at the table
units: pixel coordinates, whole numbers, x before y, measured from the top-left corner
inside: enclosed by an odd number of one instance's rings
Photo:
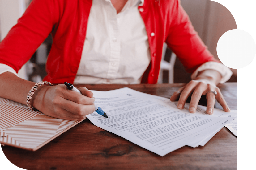
[[[27,99],[36,82],[19,78],[17,72],[50,33],[44,81],[58,85],[45,82]],[[177,107],[183,109],[192,95],[189,111],[194,113],[206,95],[208,114],[215,98],[230,111],[216,85],[232,72],[207,50],[178,0],[33,0],[0,43],[0,96],[49,116],[82,120],[94,111],[95,98],[86,87],[78,88],[83,95],[67,90],[65,81],[157,83],[164,42],[192,73],[193,80],[170,98],[179,98]]]

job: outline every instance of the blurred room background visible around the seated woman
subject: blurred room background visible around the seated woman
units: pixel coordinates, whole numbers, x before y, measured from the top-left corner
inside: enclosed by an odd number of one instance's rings
[[[17,23],[32,0],[0,0],[0,41]],[[232,12],[223,4],[211,0],[180,0],[181,5],[190,20],[207,45],[209,51],[218,59],[216,46],[222,34],[228,30],[237,29],[237,22]],[[33,82],[39,82],[46,75],[45,62],[51,48],[52,37],[48,38],[37,49],[32,58],[19,71],[18,75]],[[181,62],[172,55],[172,51],[164,48],[164,61],[168,68],[162,65],[161,77],[158,83],[187,83],[190,75]],[[238,82],[238,70],[231,69],[233,75],[228,82]]]

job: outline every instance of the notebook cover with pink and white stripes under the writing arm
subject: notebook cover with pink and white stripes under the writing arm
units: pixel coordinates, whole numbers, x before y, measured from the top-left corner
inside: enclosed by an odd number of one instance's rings
[[[0,143],[36,151],[81,121],[62,120],[0,97]]]

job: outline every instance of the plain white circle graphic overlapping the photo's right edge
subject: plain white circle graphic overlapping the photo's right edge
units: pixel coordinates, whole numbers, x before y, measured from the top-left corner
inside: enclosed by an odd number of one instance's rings
[[[217,55],[227,67],[241,70],[248,67],[256,55],[253,36],[243,29],[225,32],[217,43]]]

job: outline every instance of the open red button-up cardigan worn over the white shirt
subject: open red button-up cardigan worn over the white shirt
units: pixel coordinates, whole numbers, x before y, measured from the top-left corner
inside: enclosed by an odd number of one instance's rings
[[[73,83],[91,6],[92,0],[33,0],[0,43],[0,63],[18,72],[52,33],[53,44],[44,80]],[[151,63],[141,83],[157,83],[163,42],[188,72],[192,73],[205,62],[216,61],[195,32],[178,0],[145,0],[143,6],[138,8],[146,26],[151,51]]]

